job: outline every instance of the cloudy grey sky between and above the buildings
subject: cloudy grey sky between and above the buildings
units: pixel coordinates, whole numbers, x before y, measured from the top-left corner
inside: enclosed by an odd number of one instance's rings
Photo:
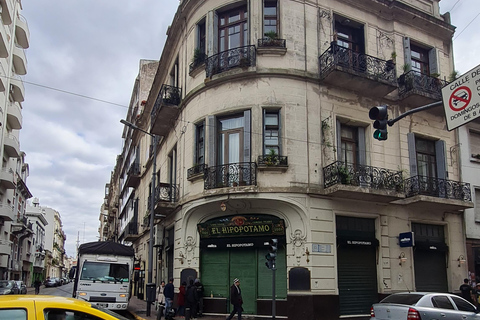
[[[122,129],[140,59],[160,58],[178,0],[24,0],[26,51],[21,149],[27,185],[56,209],[67,234],[96,241],[105,184],[121,152]],[[478,0],[442,0],[451,11],[456,69],[480,64]],[[470,24],[470,25],[469,25]]]

